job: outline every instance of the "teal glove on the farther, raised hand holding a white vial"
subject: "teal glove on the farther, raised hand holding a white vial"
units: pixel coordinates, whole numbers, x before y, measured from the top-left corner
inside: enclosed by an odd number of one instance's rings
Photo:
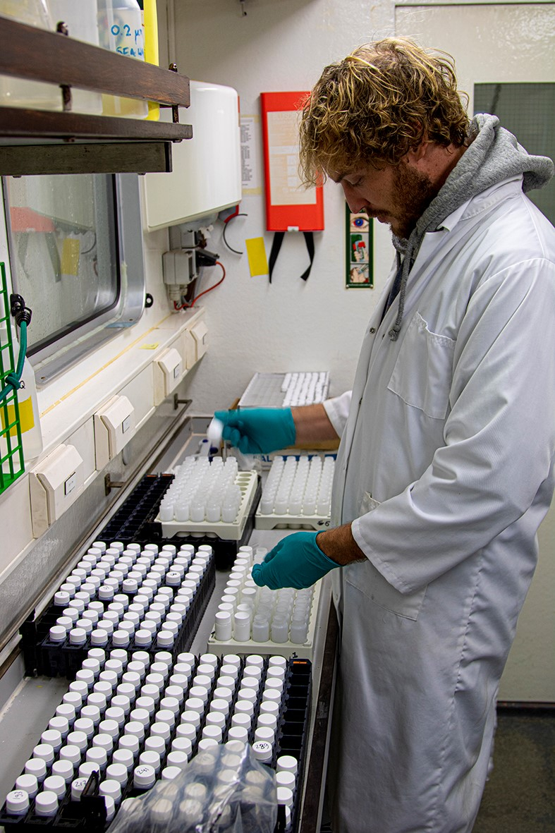
[[[222,436],[243,454],[267,454],[293,446],[297,431],[291,408],[242,408],[217,411]]]

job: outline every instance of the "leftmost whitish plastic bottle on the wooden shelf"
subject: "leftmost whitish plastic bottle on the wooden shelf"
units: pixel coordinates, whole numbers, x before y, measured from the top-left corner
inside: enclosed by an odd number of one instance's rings
[[[0,15],[41,29],[54,29],[48,0],[0,0]],[[0,76],[0,104],[2,107],[61,110],[62,92],[56,84]]]

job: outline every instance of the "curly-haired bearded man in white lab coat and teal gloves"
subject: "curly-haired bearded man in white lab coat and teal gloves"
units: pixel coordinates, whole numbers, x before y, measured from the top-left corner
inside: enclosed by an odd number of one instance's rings
[[[553,166],[497,117],[468,125],[449,58],[393,38],[324,70],[301,157],[390,225],[397,262],[352,396],[218,415],[242,451],[341,436],[335,526],[253,576],[333,571],[335,833],[464,833],[553,493],[555,231],[524,194]]]

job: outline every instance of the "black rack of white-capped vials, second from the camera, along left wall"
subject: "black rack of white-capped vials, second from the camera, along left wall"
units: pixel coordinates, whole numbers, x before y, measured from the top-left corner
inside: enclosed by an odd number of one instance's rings
[[[214,586],[210,546],[94,541],[23,630],[26,664],[72,678],[94,646],[177,656],[191,646]]]

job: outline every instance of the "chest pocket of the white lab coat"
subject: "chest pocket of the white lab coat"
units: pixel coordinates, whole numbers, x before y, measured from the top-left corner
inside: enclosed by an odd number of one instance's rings
[[[417,312],[408,326],[388,389],[433,419],[445,419],[455,342],[428,330]]]

